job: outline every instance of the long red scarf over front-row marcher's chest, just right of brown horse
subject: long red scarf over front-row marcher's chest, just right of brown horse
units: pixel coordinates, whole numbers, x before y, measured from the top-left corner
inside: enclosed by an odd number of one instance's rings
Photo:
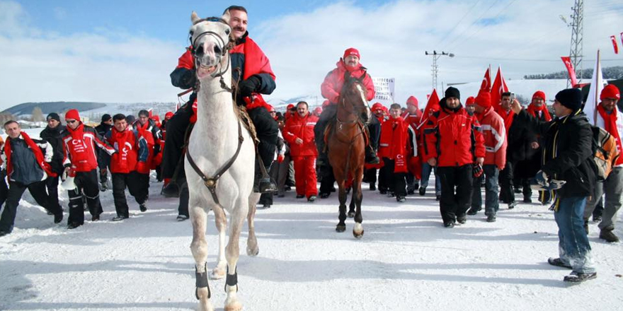
[[[402,117],[390,118],[381,129],[379,145],[383,151],[381,156],[394,160],[394,172],[407,172],[406,141],[408,124]]]

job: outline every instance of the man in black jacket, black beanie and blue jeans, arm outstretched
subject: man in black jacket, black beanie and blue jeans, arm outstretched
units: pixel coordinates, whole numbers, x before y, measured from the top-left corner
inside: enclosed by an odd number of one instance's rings
[[[521,110],[518,101],[513,102],[513,111],[518,114],[515,122],[526,124],[544,138],[544,163],[535,180],[545,188],[552,184],[551,180],[566,182],[556,189],[554,202],[560,257],[547,260],[551,265],[573,269],[571,275],[564,277],[566,282],[581,282],[597,276],[583,228],[586,199],[593,193],[595,183],[594,163],[591,163],[593,131],[581,105],[581,90],[561,90],[553,106],[556,118],[541,122]]]

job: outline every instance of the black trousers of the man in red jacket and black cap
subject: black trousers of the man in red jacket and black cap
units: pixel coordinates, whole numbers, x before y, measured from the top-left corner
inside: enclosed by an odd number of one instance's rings
[[[437,168],[441,180],[439,208],[444,223],[454,222],[464,216],[471,204],[473,182],[472,165],[443,166]]]

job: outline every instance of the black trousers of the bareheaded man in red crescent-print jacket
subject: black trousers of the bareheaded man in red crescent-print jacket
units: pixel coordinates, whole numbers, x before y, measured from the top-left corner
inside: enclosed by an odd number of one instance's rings
[[[134,199],[138,204],[143,204],[147,201],[147,194],[142,187],[142,180],[138,172],[118,173],[113,172],[113,199],[115,200],[115,210],[117,216],[130,217],[130,211],[127,207],[127,201],[125,199],[125,187],[130,191],[130,195],[134,196]],[[149,176],[149,175],[148,175]]]

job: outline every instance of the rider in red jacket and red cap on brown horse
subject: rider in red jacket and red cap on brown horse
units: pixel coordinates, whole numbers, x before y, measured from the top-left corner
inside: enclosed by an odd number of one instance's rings
[[[314,129],[317,137],[324,137],[324,129],[328,122],[331,122],[336,118],[338,111],[337,104],[340,98],[340,92],[344,86],[345,76],[353,78],[362,78],[363,85],[365,86],[365,99],[370,101],[375,98],[375,85],[372,82],[372,78],[367,74],[367,68],[361,65],[359,62],[360,54],[358,49],[350,47],[344,51],[343,57],[337,62],[336,69],[329,71],[324,78],[324,82],[320,86],[322,96],[329,101],[326,107],[323,107],[322,114]],[[371,123],[372,124],[372,123]],[[375,137],[378,136],[380,131],[380,124],[368,127],[370,132],[370,143],[365,148],[365,162],[370,164],[379,163],[379,157],[376,154],[378,140]],[[318,148],[319,165],[328,167],[328,158],[326,157],[324,139],[316,139],[316,146]]]

